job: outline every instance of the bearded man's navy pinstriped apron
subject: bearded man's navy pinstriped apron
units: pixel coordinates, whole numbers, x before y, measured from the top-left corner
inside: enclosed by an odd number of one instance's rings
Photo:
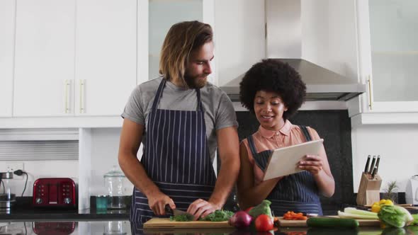
[[[147,175],[176,204],[187,210],[191,202],[208,200],[215,187],[215,171],[206,142],[205,112],[196,89],[197,110],[158,109],[166,84],[162,79],[152,103],[147,122],[147,142],[141,164]],[[147,197],[134,188],[130,221],[132,229],[156,215],[149,208]]]

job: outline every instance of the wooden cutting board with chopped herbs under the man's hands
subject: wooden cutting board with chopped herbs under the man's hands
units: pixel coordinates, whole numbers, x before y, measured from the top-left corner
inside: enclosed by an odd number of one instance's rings
[[[176,222],[169,218],[152,218],[144,224],[144,229],[205,229],[205,228],[231,228],[227,221],[188,221]]]

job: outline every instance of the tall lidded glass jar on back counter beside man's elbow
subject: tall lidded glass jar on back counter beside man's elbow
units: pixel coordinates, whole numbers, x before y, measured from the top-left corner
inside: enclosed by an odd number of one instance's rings
[[[125,175],[119,171],[117,166],[113,166],[111,171],[104,176],[104,185],[108,194],[108,209],[122,209],[125,208],[124,190],[125,190]]]

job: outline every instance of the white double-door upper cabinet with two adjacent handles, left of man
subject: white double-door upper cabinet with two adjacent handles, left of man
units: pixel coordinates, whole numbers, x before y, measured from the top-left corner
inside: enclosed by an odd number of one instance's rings
[[[13,116],[120,115],[136,48],[136,0],[18,1]]]

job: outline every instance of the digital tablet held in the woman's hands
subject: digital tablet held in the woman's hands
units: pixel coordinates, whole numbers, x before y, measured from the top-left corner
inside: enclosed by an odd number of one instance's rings
[[[324,142],[324,139],[274,149],[267,164],[263,180],[304,171],[298,168],[298,162],[306,155],[320,154],[322,142]]]

